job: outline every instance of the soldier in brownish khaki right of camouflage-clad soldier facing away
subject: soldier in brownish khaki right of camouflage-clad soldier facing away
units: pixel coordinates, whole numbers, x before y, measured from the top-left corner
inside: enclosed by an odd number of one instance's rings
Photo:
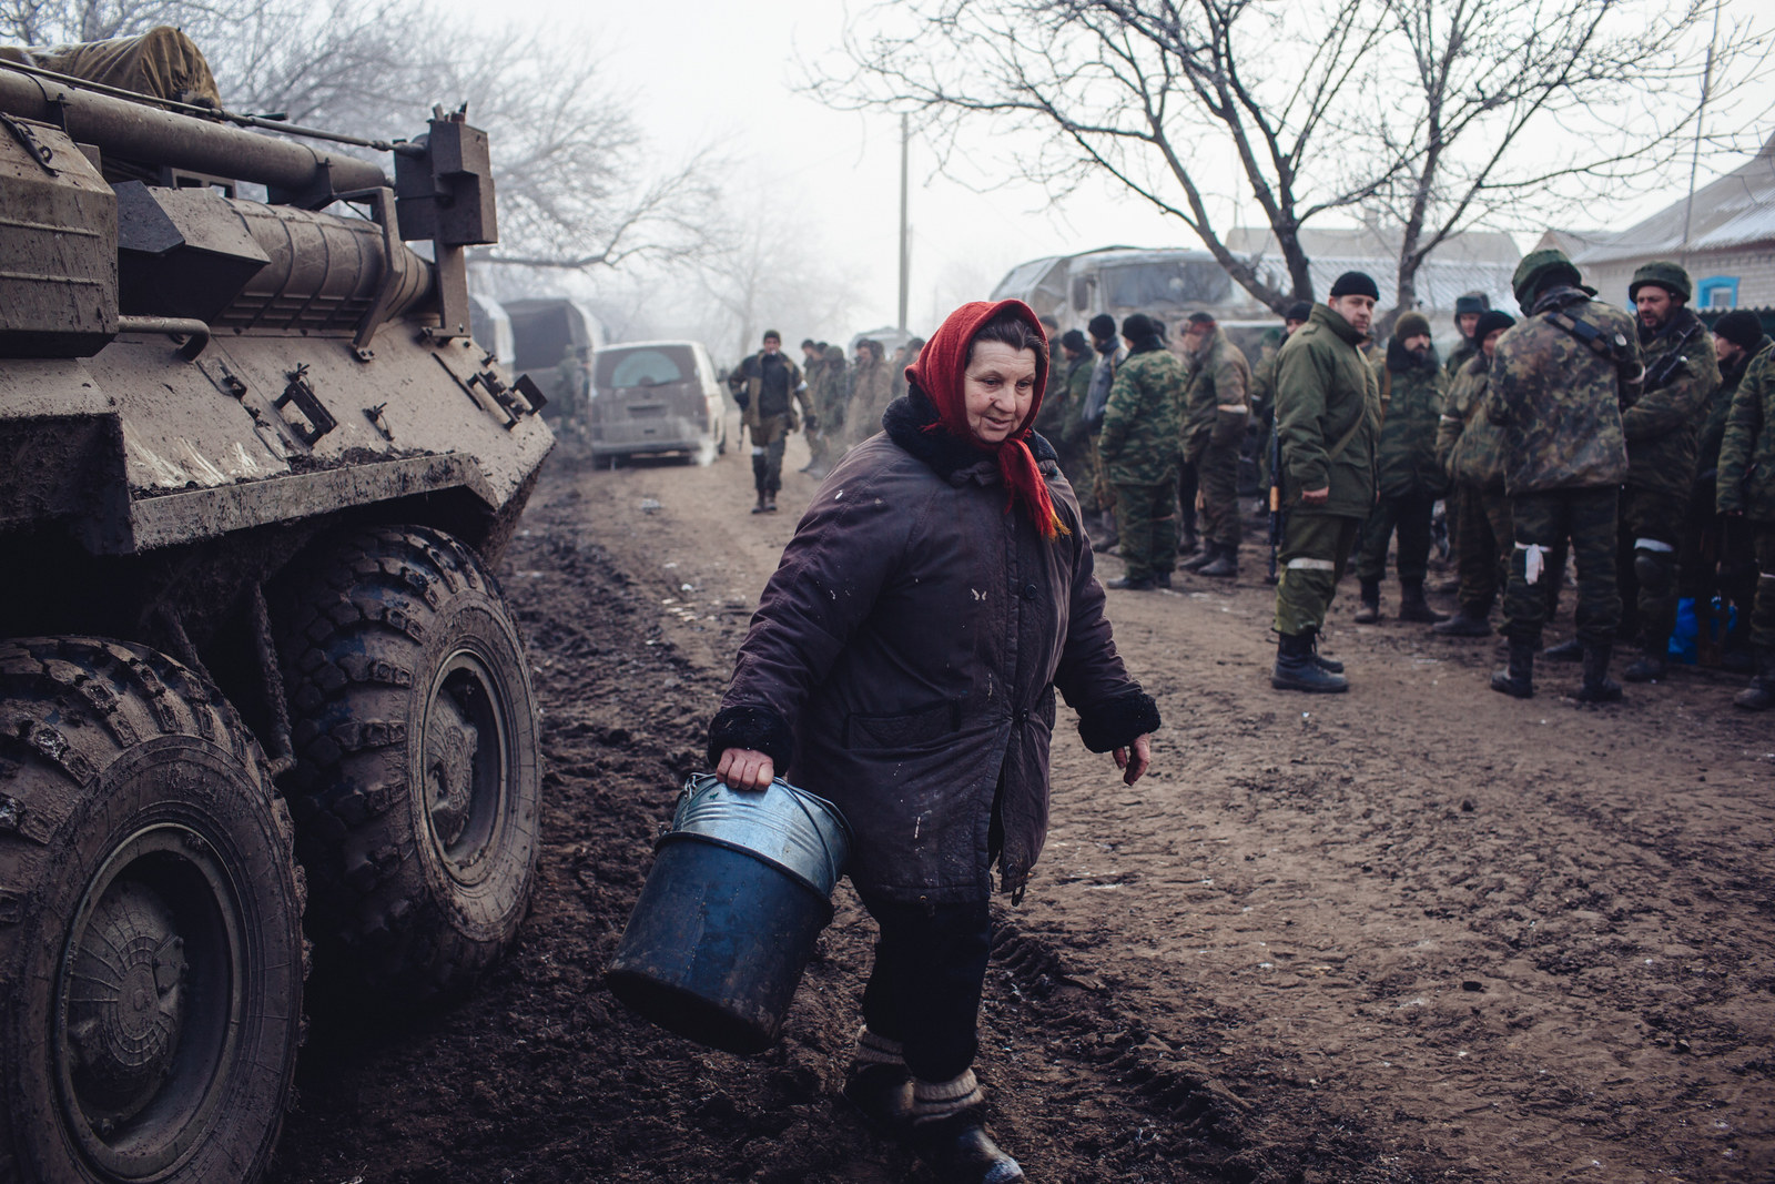
[[[1182,454],[1200,481],[1203,547],[1182,566],[1230,579],[1239,575],[1239,447],[1251,419],[1251,366],[1207,312],[1189,314],[1184,350],[1189,385]]]

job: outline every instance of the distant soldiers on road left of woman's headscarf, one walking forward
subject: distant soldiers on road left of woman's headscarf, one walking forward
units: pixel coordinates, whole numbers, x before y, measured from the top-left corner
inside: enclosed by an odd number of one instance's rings
[[[921,337],[912,337],[889,357],[880,341],[864,337],[856,357],[843,346],[801,343],[797,366],[783,353],[783,335],[765,330],[758,353],[728,375],[728,391],[740,407],[742,431],[753,446],[753,513],[774,513],[783,488],[783,444],[793,431],[806,431],[811,460],[802,472],[824,478],[845,449],[880,430],[882,412],[905,394],[905,367],[918,360]],[[795,405],[801,414],[795,414]]]

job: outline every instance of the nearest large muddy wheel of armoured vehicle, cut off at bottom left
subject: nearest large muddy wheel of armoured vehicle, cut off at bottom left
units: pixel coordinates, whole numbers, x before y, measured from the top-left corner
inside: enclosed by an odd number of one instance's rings
[[[169,657],[0,641],[0,1180],[254,1180],[302,1040],[261,754]]]

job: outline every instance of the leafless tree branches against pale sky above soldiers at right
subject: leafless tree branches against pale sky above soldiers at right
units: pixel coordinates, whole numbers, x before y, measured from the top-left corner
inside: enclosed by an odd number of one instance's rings
[[[1558,165],[1532,162],[1546,158],[1541,137],[1590,105],[1670,99],[1697,80],[1704,4],[898,0],[852,21],[852,69],[813,91],[834,107],[916,112],[946,167],[980,117],[1033,131],[1012,140],[1021,176],[1065,192],[1108,172],[1282,311],[1314,295],[1299,231],[1326,213],[1384,209],[1413,227],[1409,293],[1436,245],[1512,197],[1589,195],[1660,163],[1693,126],[1693,99],[1615,135],[1560,138]],[[1219,160],[1205,142],[1232,146],[1237,178],[1202,163]],[[1216,201],[1262,211],[1287,288],[1227,247]]]

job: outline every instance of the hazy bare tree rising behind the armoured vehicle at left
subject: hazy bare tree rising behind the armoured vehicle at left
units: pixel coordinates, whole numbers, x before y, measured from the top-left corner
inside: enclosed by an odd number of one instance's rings
[[[499,183],[502,247],[483,261],[596,268],[708,245],[717,162],[655,153],[584,34],[481,28],[403,0],[0,0],[0,37],[28,44],[154,25],[197,41],[231,110],[396,140],[433,103],[467,103]]]

